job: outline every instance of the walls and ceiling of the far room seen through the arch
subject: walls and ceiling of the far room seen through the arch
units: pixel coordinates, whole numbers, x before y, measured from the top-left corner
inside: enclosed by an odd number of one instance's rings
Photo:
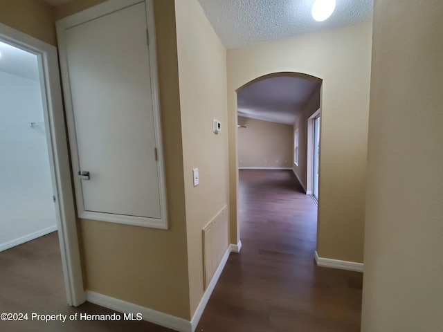
[[[257,77],[237,89],[237,172],[286,172],[294,190],[313,193],[318,184],[314,147],[319,146],[313,144],[314,137],[319,138],[313,135],[313,124],[319,123],[321,83],[318,77],[283,72]],[[312,116],[317,121],[312,122]]]

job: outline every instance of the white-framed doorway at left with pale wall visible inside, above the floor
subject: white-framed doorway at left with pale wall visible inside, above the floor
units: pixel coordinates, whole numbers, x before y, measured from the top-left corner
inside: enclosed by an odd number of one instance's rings
[[[57,49],[3,24],[0,43],[0,251],[58,230],[66,302],[78,306],[85,296]]]

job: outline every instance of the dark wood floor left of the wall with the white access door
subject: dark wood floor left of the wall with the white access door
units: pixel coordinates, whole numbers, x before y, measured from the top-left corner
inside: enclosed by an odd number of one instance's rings
[[[0,313],[28,313],[28,320],[3,322],[0,332],[170,332],[150,322],[41,322],[31,313],[70,315],[112,314],[86,302],[78,308],[66,304],[62,259],[57,232],[0,252]]]

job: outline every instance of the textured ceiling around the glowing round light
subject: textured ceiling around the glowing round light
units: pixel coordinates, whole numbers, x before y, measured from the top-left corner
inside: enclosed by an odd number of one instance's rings
[[[314,0],[199,0],[226,48],[358,24],[372,19],[373,0],[336,0],[329,19],[314,21]]]

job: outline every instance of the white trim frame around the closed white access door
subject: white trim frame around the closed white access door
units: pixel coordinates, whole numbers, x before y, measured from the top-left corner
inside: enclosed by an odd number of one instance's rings
[[[73,113],[73,101],[71,98],[71,84],[69,80],[68,56],[66,51],[66,30],[77,26],[86,21],[91,21],[103,15],[116,12],[123,8],[136,5],[138,3],[145,3],[147,30],[149,33],[149,65],[151,75],[151,93],[152,106],[154,109],[154,131],[157,149],[157,175],[159,178],[159,196],[160,196],[160,218],[141,217],[141,216],[124,216],[121,214],[111,214],[102,212],[93,212],[85,210],[84,199],[82,194],[82,181],[78,176],[73,176],[75,186],[75,199],[77,202],[78,216],[82,219],[93,219],[98,221],[107,221],[111,223],[122,223],[125,225],[137,225],[150,228],[168,229],[168,208],[166,200],[166,185],[164,172],[164,157],[163,157],[163,143],[161,133],[161,117],[160,117],[160,102],[159,102],[159,79],[157,75],[157,61],[156,61],[156,34],[154,22],[154,6],[152,0],[108,0],[96,6],[82,10],[64,19],[60,19],[55,23],[57,28],[58,48],[60,51],[60,69],[62,72],[62,82],[66,109],[66,120],[68,122],[69,143],[71,147],[71,161],[73,174],[77,174],[80,170],[80,160],[78,157],[78,146],[75,135],[75,121]]]

